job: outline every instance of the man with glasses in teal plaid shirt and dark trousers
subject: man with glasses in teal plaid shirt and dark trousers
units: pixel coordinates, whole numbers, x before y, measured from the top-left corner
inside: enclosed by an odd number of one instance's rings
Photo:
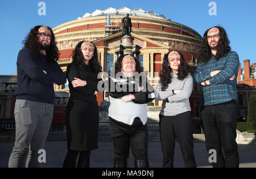
[[[239,167],[236,85],[240,62],[229,43],[224,28],[208,29],[193,74],[195,82],[203,86],[201,119],[207,151],[215,150],[217,154],[213,167]]]

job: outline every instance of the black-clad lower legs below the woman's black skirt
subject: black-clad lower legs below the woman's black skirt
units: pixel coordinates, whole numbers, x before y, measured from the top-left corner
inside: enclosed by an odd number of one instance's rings
[[[90,167],[90,151],[73,151],[68,150],[68,154],[64,160],[63,168],[76,168],[76,159],[79,155],[79,161],[77,168],[89,168]]]

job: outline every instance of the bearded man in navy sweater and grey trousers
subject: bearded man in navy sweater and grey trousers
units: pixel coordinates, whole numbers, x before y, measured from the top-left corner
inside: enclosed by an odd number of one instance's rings
[[[17,59],[18,90],[14,109],[16,140],[9,167],[39,167],[38,151],[44,147],[52,123],[53,84],[65,84],[57,63],[59,50],[52,29],[38,25],[23,41]]]

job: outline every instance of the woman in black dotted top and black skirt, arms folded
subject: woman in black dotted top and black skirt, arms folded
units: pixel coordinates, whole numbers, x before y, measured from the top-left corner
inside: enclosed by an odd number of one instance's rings
[[[73,52],[73,61],[67,67],[71,96],[67,107],[68,154],[64,168],[88,168],[90,151],[98,148],[96,95],[100,72],[96,46],[89,41],[79,42]]]

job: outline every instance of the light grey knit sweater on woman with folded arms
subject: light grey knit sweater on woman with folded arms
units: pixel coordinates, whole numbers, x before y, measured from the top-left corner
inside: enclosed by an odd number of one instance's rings
[[[172,90],[182,90],[174,95]],[[161,101],[168,99],[169,103],[163,101],[160,114],[163,116],[176,116],[187,111],[191,111],[189,104],[189,96],[193,90],[193,78],[188,75],[184,80],[179,80],[177,77],[172,77],[172,82],[168,84],[165,91],[161,90],[161,83],[155,90],[155,100]]]

